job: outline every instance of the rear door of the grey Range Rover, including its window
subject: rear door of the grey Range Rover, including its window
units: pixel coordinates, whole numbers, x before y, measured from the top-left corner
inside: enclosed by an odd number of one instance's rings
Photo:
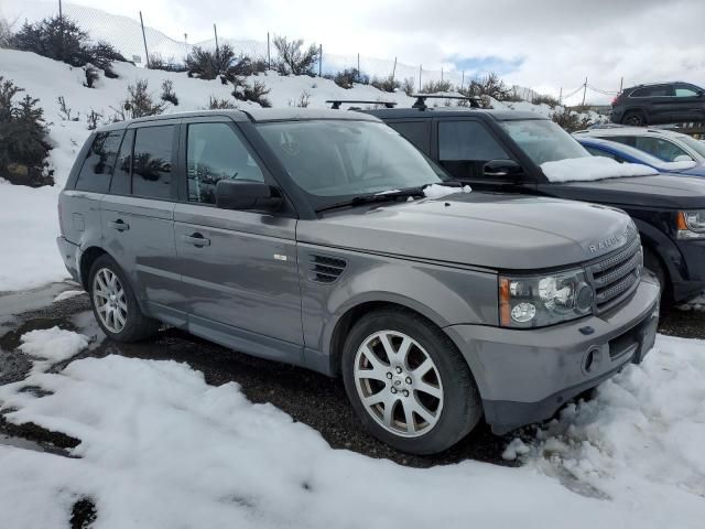
[[[178,296],[174,246],[172,177],[177,160],[175,120],[140,123],[128,129],[101,203],[105,248],[131,280],[142,309],[173,325],[186,323]]]

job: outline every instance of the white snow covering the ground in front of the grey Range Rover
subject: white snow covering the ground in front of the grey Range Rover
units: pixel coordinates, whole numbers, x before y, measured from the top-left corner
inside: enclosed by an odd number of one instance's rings
[[[30,334],[32,354],[50,356],[57,331]],[[78,336],[64,353],[82,347]],[[412,469],[332,450],[271,404],[249,402],[237,384],[208,386],[175,361],[108,356],[59,374],[35,369],[0,388],[2,409],[17,410],[7,419],[82,444],[77,458],[0,445],[0,511],[7,527],[65,527],[72,504],[88,496],[96,529],[701,528],[704,349],[659,337],[643,366],[568,408],[528,446],[512,443],[525,454],[518,468]],[[18,391],[29,385],[51,395]]]

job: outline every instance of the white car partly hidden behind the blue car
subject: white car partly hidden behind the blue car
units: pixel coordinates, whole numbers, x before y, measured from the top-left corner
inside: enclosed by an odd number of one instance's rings
[[[633,147],[664,162],[705,162],[705,142],[691,136],[653,127],[608,127],[579,130],[575,138],[601,138]]]

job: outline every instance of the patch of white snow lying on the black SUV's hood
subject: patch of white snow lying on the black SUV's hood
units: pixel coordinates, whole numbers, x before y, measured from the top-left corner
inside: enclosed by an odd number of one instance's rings
[[[655,169],[639,163],[619,163],[604,156],[581,156],[544,162],[543,174],[551,182],[590,182],[621,176],[649,176],[659,174]]]

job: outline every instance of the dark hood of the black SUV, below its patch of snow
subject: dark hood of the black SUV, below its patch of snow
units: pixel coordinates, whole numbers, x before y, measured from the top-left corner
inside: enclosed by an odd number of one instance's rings
[[[618,207],[705,208],[705,180],[680,174],[541,184],[540,187],[542,192],[552,196],[612,204]]]

